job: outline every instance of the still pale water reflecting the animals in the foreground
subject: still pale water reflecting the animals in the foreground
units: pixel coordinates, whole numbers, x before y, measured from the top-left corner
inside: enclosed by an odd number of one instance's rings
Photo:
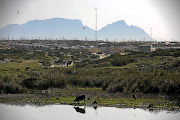
[[[0,103],[0,120],[180,120],[180,111]]]

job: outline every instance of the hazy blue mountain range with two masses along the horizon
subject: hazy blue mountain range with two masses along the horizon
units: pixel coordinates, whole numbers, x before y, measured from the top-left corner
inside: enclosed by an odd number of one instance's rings
[[[124,20],[108,24],[98,32],[98,40],[145,39],[151,37],[137,26],[128,26]],[[32,20],[25,24],[10,24],[0,29],[0,38],[19,39],[95,39],[95,30],[84,26],[80,20],[52,18]]]

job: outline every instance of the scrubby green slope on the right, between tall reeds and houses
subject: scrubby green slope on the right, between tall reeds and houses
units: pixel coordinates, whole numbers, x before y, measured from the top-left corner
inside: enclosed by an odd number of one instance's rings
[[[151,53],[131,52],[128,55],[111,55],[101,60],[86,60],[77,67],[174,69],[179,67],[180,50],[157,50]]]

